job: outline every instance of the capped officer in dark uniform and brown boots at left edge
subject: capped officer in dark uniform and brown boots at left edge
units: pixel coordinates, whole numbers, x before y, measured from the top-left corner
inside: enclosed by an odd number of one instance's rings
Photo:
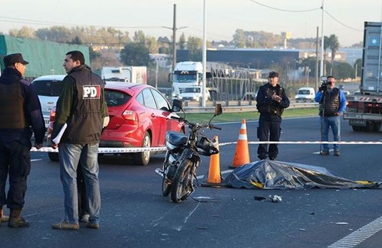
[[[7,55],[3,61],[6,68],[0,76],[0,224],[7,219],[2,211],[2,206],[7,204],[10,208],[8,227],[29,227],[20,212],[24,206],[26,179],[30,172],[30,139],[33,130],[35,147],[40,149],[45,124],[36,91],[30,82],[22,78],[28,62],[21,54]]]

